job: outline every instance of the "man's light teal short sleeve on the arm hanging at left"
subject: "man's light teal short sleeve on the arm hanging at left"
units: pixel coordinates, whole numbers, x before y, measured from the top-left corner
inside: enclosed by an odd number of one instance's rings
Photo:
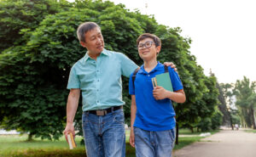
[[[69,73],[67,89],[80,88],[79,76],[76,74],[75,67],[73,66]]]

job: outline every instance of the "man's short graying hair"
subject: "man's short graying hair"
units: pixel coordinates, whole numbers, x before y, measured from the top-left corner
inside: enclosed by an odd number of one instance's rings
[[[79,38],[79,42],[85,42],[84,34],[87,31],[91,31],[96,27],[101,29],[101,27],[99,27],[99,25],[97,25],[95,22],[84,22],[83,24],[79,25],[79,28],[78,28],[78,31],[77,31],[77,36]]]

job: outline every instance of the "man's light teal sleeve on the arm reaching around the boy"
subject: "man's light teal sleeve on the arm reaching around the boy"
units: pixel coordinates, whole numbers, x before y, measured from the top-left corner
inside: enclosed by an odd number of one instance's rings
[[[130,74],[138,68],[137,64],[135,64],[123,53],[119,53],[119,57],[121,61],[122,75],[126,77],[130,76]]]

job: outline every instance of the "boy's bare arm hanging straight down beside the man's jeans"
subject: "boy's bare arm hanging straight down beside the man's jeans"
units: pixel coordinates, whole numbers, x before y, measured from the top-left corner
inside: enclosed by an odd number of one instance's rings
[[[134,121],[135,121],[136,112],[137,112],[137,106],[136,106],[136,101],[135,101],[135,95],[131,95],[131,132],[130,132],[130,144],[131,144],[132,147],[135,147],[133,124],[134,124]]]

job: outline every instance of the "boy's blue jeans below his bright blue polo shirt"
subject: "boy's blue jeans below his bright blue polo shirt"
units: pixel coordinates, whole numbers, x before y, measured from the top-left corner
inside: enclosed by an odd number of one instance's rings
[[[134,127],[134,140],[137,157],[172,157],[175,128],[150,132]]]

